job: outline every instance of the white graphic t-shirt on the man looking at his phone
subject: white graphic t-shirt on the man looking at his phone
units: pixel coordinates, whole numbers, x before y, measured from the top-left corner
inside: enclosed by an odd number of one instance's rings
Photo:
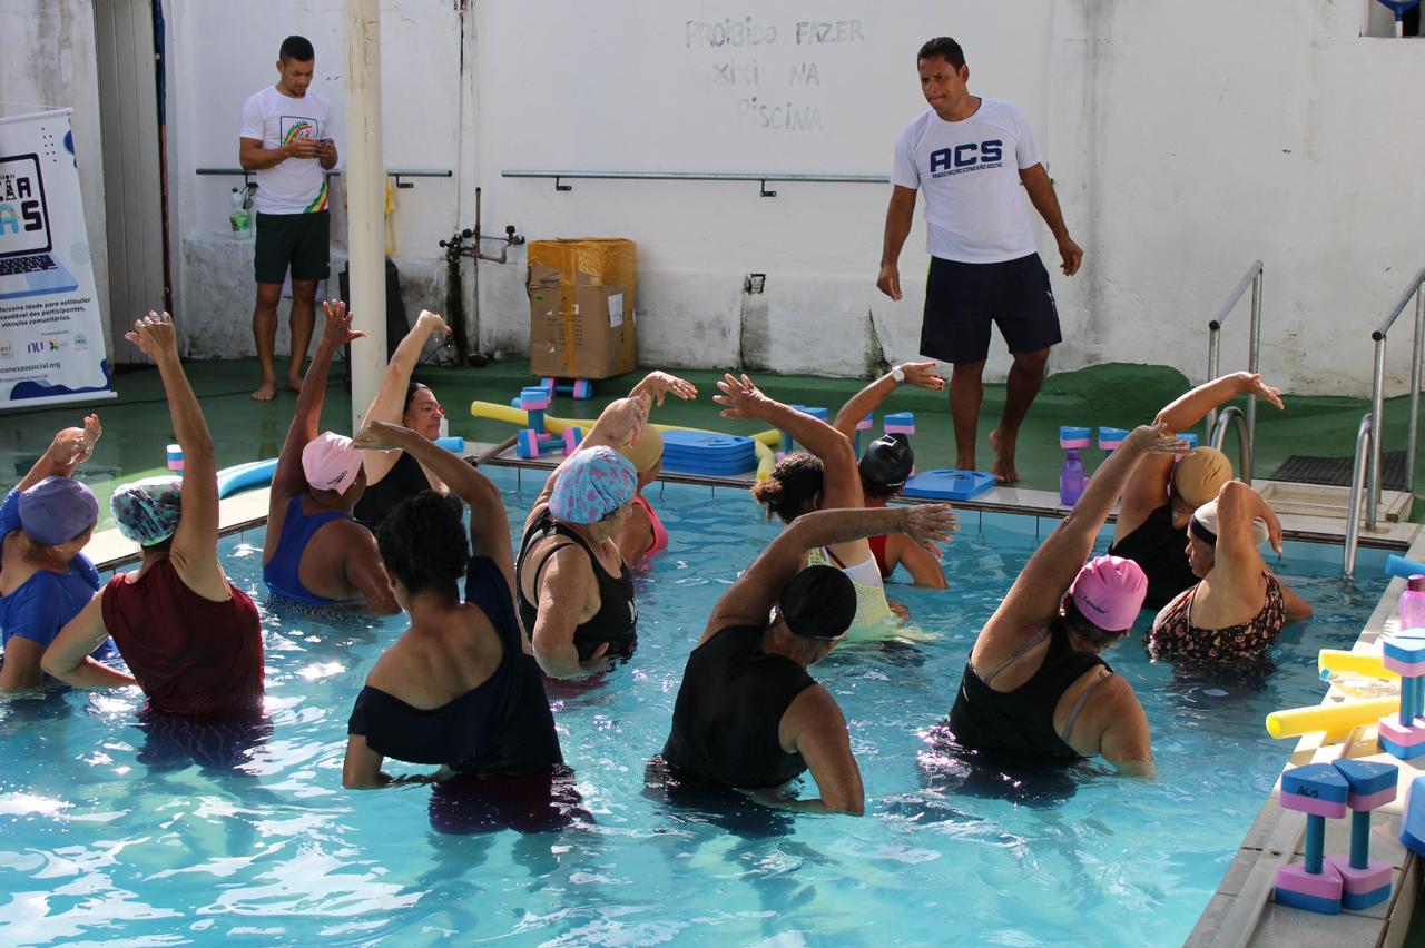
[[[281,148],[296,138],[331,138],[326,121],[331,105],[321,93],[306,90],[292,98],[268,85],[242,107],[238,138],[255,138],[264,148]],[[286,158],[256,172],[259,214],[316,214],[326,209],[326,172],[318,158]]]

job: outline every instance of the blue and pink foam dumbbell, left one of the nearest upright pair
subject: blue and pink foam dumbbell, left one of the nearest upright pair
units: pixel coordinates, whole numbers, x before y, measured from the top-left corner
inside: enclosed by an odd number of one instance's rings
[[[1324,915],[1341,911],[1341,873],[1325,861],[1327,817],[1345,816],[1351,786],[1331,764],[1307,764],[1281,774],[1281,806],[1307,814],[1305,860],[1277,870],[1277,901]]]

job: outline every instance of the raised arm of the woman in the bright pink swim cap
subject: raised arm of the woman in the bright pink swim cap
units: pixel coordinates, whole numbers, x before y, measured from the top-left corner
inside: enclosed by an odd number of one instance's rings
[[[1099,530],[1109,518],[1109,511],[1113,510],[1139,460],[1149,453],[1171,454],[1186,450],[1187,443],[1168,434],[1161,426],[1134,428],[1099,467],[1069,515],[1025,564],[1009,595],[985,623],[980,636],[1002,631],[1039,629],[1059,615],[1064,592],[1089,558]]]

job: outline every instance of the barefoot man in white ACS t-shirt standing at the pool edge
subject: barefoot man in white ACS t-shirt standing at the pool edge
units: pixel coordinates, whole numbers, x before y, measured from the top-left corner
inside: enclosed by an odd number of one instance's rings
[[[901,246],[915,216],[915,192],[923,189],[931,273],[921,352],[955,366],[955,465],[972,471],[985,391],[980,374],[990,323],[999,326],[1015,364],[1005,411],[989,440],[995,478],[1012,484],[1019,480],[1019,426],[1045,380],[1050,346],[1063,340],[1020,185],[1059,243],[1064,276],[1079,272],[1083,251],[1069,238],[1029,122],[1009,102],[969,94],[970,70],[960,44],[949,37],[931,40],[916,54],[916,67],[931,107],[896,139],[876,286],[901,299]]]

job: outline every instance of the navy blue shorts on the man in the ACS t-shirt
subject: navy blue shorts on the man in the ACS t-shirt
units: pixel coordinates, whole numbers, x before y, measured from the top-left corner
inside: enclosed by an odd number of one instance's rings
[[[940,362],[985,362],[990,323],[999,326],[1012,353],[1063,342],[1049,270],[1039,255],[1003,263],[958,263],[932,256],[921,352]]]

